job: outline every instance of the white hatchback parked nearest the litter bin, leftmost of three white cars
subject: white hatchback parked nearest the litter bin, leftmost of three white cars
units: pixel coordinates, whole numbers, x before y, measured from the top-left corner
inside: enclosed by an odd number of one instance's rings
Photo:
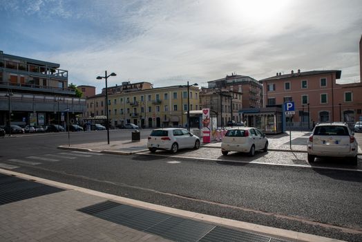
[[[198,149],[200,147],[200,138],[186,129],[154,129],[149,136],[147,147],[151,152],[155,152],[158,149],[165,149],[176,153],[178,149]]]

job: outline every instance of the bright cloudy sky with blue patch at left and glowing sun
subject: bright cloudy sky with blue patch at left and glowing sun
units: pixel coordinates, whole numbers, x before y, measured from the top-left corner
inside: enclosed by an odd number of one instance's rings
[[[231,73],[341,70],[359,82],[361,0],[0,0],[0,50],[68,81],[207,86]]]

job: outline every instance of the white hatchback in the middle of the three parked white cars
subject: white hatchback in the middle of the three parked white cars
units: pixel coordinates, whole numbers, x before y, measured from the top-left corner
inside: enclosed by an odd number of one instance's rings
[[[254,156],[256,150],[268,151],[269,142],[265,134],[252,127],[236,127],[229,129],[222,138],[221,152],[227,156],[229,151],[249,153]]]

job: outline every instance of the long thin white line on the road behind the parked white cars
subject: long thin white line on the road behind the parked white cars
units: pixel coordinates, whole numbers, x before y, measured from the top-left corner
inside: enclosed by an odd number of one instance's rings
[[[138,153],[140,156],[163,156],[170,157],[168,155],[154,154],[154,153]],[[187,160],[207,160],[207,161],[222,161],[222,162],[235,162],[235,163],[244,163],[244,164],[256,164],[256,165],[276,165],[280,167],[302,167],[302,168],[312,168],[312,169],[330,169],[335,171],[357,171],[362,172],[362,169],[350,169],[350,168],[339,168],[339,167],[320,167],[312,165],[297,165],[297,164],[275,164],[268,162],[257,162],[257,161],[242,161],[242,160],[222,160],[215,158],[201,158],[201,157],[190,157],[190,156],[172,156],[175,158],[182,158]]]

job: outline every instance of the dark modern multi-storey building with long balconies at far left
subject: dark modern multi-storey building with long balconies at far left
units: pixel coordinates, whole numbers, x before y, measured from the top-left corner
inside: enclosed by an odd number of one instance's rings
[[[65,124],[86,108],[86,100],[68,89],[68,71],[59,64],[8,55],[0,50],[0,125]],[[10,114],[10,115],[9,115]]]

